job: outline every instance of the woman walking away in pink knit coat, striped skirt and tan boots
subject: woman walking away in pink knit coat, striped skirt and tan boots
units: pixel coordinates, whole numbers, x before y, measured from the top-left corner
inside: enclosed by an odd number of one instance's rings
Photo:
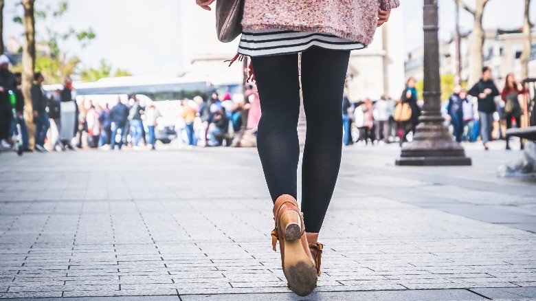
[[[212,2],[197,0],[207,10]],[[252,58],[260,96],[258,153],[274,202],[273,249],[279,241],[284,275],[300,296],[313,291],[320,275],[317,239],[339,173],[350,50],[369,45],[397,6],[399,0],[245,0],[238,53]],[[307,118],[301,210],[299,53]]]

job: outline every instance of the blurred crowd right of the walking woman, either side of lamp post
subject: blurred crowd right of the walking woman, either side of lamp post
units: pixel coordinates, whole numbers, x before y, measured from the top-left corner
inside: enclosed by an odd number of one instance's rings
[[[344,96],[344,144],[397,142],[402,145],[412,140],[424,103],[418,100],[415,85],[414,78],[407,80],[398,100],[383,96],[376,101],[366,99],[352,103]],[[511,137],[506,135],[506,129],[522,127],[527,122],[524,117],[527,115],[526,89],[513,74],[506,76],[500,91],[493,82],[491,69],[484,67],[482,78],[471,89],[455,85],[453,90],[441,107],[453,139],[457,142],[480,141],[486,150],[489,142],[506,140],[506,149],[511,149]]]

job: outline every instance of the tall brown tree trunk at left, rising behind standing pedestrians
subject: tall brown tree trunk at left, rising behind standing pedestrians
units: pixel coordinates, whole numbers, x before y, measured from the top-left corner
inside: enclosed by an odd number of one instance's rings
[[[35,17],[34,17],[35,0],[23,0],[24,6],[24,29],[25,43],[23,45],[23,73],[22,73],[22,91],[24,95],[24,118],[28,126],[28,137],[30,138],[30,148],[34,147],[35,125],[34,109],[32,107],[32,82],[34,81],[35,69]]]

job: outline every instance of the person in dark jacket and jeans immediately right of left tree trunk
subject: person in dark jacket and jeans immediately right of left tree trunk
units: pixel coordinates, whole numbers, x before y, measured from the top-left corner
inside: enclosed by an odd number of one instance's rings
[[[43,81],[45,81],[45,78],[41,72],[36,72],[32,85],[32,107],[34,108],[35,148],[42,153],[46,153],[45,139],[50,128],[50,122],[47,113],[48,99],[41,86]]]

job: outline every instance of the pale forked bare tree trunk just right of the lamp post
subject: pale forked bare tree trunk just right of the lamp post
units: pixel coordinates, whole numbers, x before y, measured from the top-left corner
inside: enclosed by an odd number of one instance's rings
[[[465,4],[463,0],[454,0],[456,4],[470,12],[474,16],[472,43],[471,43],[471,71],[469,72],[469,85],[473,85],[478,82],[478,79],[482,75],[482,67],[484,67],[484,54],[482,48],[484,47],[485,32],[482,27],[482,16],[484,15],[484,8],[489,0],[476,0],[476,8],[470,8]]]

